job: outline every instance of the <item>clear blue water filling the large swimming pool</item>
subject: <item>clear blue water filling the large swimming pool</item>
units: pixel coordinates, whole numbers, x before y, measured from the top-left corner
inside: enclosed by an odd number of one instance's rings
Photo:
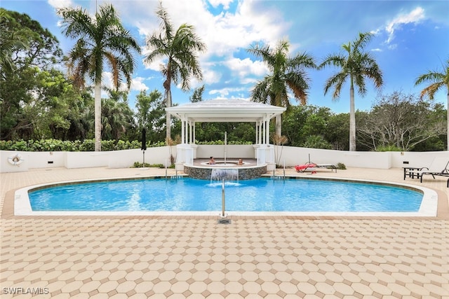
[[[227,211],[419,211],[422,193],[368,183],[253,179],[225,183]],[[222,183],[142,179],[29,192],[34,211],[220,211]]]

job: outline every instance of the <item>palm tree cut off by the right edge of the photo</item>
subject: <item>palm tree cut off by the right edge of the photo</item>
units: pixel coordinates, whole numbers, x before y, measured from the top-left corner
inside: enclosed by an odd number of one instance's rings
[[[427,74],[422,74],[416,79],[415,85],[419,85],[424,81],[430,81],[431,84],[421,91],[421,99],[424,95],[429,95],[429,99],[434,99],[435,93],[440,88],[445,87],[448,96],[448,151],[449,151],[449,59],[446,64],[443,64],[443,71],[429,71]]]

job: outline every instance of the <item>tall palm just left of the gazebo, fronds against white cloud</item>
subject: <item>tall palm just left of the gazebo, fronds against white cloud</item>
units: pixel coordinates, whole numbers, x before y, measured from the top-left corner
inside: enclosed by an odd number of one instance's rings
[[[196,53],[205,51],[206,45],[196,36],[192,25],[182,24],[175,32],[168,13],[161,5],[156,15],[161,18],[161,31],[147,37],[150,53],[145,61],[152,63],[157,58],[166,58],[166,64],[161,67],[161,73],[165,77],[163,89],[168,108],[172,105],[170,90],[172,81],[175,84],[181,83],[182,90],[187,91],[190,89],[192,76],[202,79],[203,75]],[[166,139],[170,139],[170,123],[170,114],[167,113]]]

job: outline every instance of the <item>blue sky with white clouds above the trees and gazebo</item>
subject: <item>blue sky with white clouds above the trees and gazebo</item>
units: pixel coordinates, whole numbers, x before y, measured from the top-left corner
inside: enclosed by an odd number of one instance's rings
[[[112,3],[123,25],[142,45],[145,38],[159,29],[156,18],[159,0],[1,0],[0,6],[27,13],[32,19],[58,37],[65,53],[74,41],[65,38],[58,27],[56,8],[82,6],[95,13],[95,5]],[[192,87],[206,85],[203,99],[249,99],[255,83],[267,74],[267,67],[246,52],[254,43],[275,45],[280,39],[290,41],[290,53],[307,52],[320,63],[328,54],[340,53],[343,43],[352,41],[358,32],[373,32],[366,47],[372,51],[382,69],[382,94],[394,91],[418,94],[425,85],[415,87],[415,79],[429,70],[443,71],[449,58],[449,1],[272,1],[272,0],[165,0],[175,27],[194,25],[196,34],[208,50],[200,55],[203,81],[192,81]],[[128,97],[134,108],[140,90],[163,92],[160,64],[143,63],[138,70]],[[308,103],[327,106],[335,113],[349,112],[349,86],[344,86],[340,99],[323,95],[326,78],[337,71],[328,68],[309,70],[311,89]],[[110,82],[105,72],[105,83]],[[356,109],[368,111],[377,91],[368,81],[365,97],[356,94]],[[192,92],[172,87],[173,102],[189,102]],[[436,101],[447,106],[446,90],[436,94]],[[297,104],[293,97],[292,104]]]

